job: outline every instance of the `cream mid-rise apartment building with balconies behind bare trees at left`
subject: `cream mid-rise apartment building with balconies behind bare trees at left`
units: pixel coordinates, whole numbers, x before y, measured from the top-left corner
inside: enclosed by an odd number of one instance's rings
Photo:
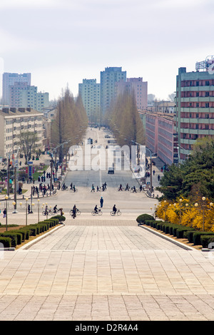
[[[43,146],[43,114],[31,108],[2,108],[0,110],[0,157],[16,154],[21,131],[38,135],[38,148]]]

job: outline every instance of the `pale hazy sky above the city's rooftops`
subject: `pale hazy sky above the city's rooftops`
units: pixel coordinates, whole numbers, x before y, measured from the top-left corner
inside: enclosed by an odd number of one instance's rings
[[[213,31],[213,0],[0,0],[0,70],[54,99],[121,66],[166,99],[179,67],[214,55]]]

